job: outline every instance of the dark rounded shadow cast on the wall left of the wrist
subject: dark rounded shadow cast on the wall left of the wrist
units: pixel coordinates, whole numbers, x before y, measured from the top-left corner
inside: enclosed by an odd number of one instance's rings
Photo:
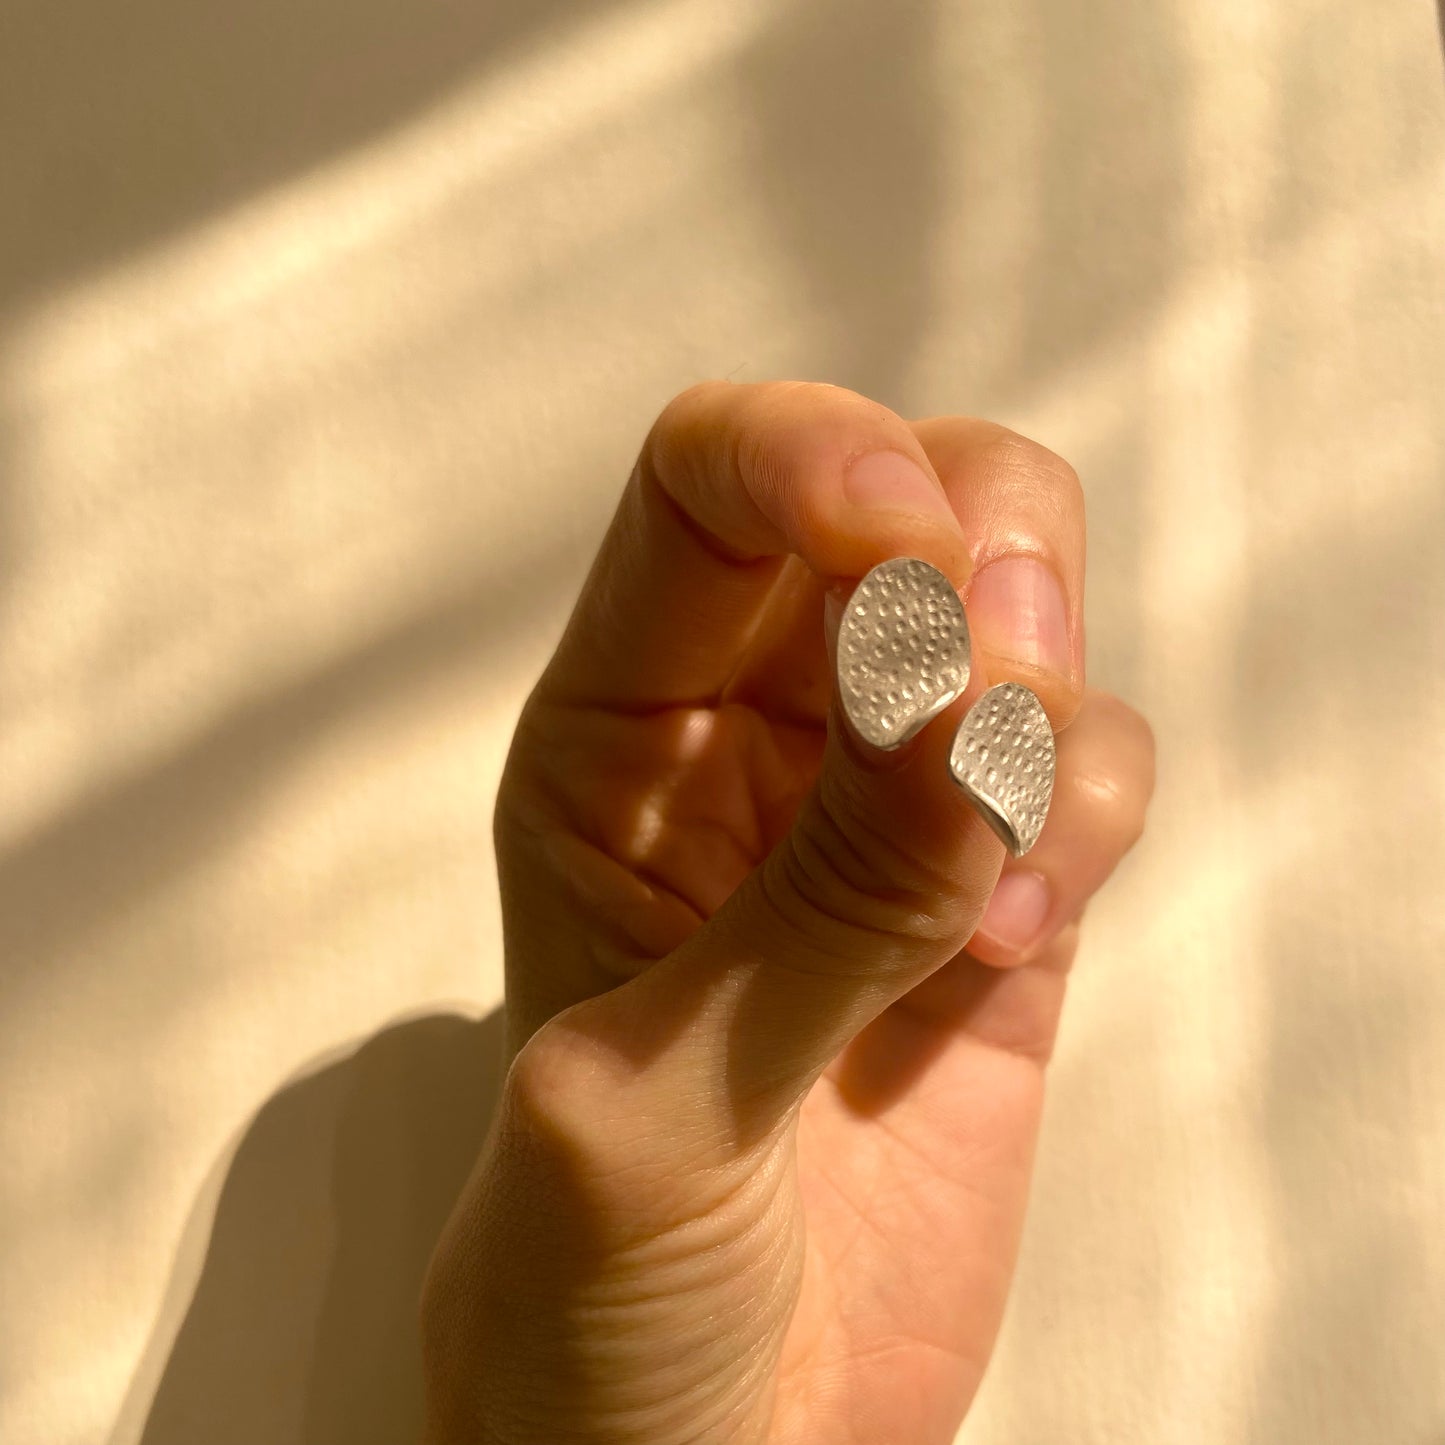
[[[143,1445],[415,1438],[422,1277],[500,1061],[500,1010],[429,1014],[266,1104],[230,1165]]]

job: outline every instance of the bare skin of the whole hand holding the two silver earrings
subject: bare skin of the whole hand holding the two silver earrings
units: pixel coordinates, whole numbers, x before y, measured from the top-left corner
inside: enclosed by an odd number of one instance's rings
[[[918,490],[851,500],[876,452]],[[1038,559],[1066,655],[980,608],[970,692],[880,753],[828,636],[897,555],[965,598]],[[499,796],[512,1058],[423,1298],[428,1445],[954,1438],[1078,919],[1153,786],[1147,725],[1084,686],[1082,584],[1078,480],[1001,428],[799,383],[663,410]],[[1006,864],[946,756],[1010,678],[1059,759]],[[1048,883],[1032,939],[984,919],[1001,867]]]

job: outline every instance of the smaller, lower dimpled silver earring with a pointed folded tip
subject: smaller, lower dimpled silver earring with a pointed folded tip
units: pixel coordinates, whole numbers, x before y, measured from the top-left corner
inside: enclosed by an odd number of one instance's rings
[[[958,725],[949,766],[1014,857],[1039,841],[1053,796],[1053,728],[1027,688],[990,688]]]

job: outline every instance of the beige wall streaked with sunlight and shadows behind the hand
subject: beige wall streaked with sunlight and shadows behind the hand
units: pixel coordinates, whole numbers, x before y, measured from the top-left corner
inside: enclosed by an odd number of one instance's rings
[[[1159,731],[964,1438],[1445,1439],[1428,0],[0,35],[0,1439],[409,1438],[510,720],[709,374],[1074,460]]]

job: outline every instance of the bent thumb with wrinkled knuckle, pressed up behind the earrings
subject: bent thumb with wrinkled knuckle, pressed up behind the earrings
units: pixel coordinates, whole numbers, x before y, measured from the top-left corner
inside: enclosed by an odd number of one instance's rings
[[[961,630],[951,587],[926,571]],[[910,624],[899,624],[900,647]],[[653,1100],[634,1100],[629,1117],[656,1118],[672,1146],[679,1130],[725,1150],[769,1134],[854,1035],[972,935],[1003,847],[949,777],[978,689],[949,701],[967,670],[931,666],[922,712],[879,692],[870,715],[844,679],[854,705],[845,717],[834,704],[818,782],[782,842],[673,954],[553,1020],[607,1040],[621,1065],[613,1082]],[[903,744],[867,740],[887,730]]]

